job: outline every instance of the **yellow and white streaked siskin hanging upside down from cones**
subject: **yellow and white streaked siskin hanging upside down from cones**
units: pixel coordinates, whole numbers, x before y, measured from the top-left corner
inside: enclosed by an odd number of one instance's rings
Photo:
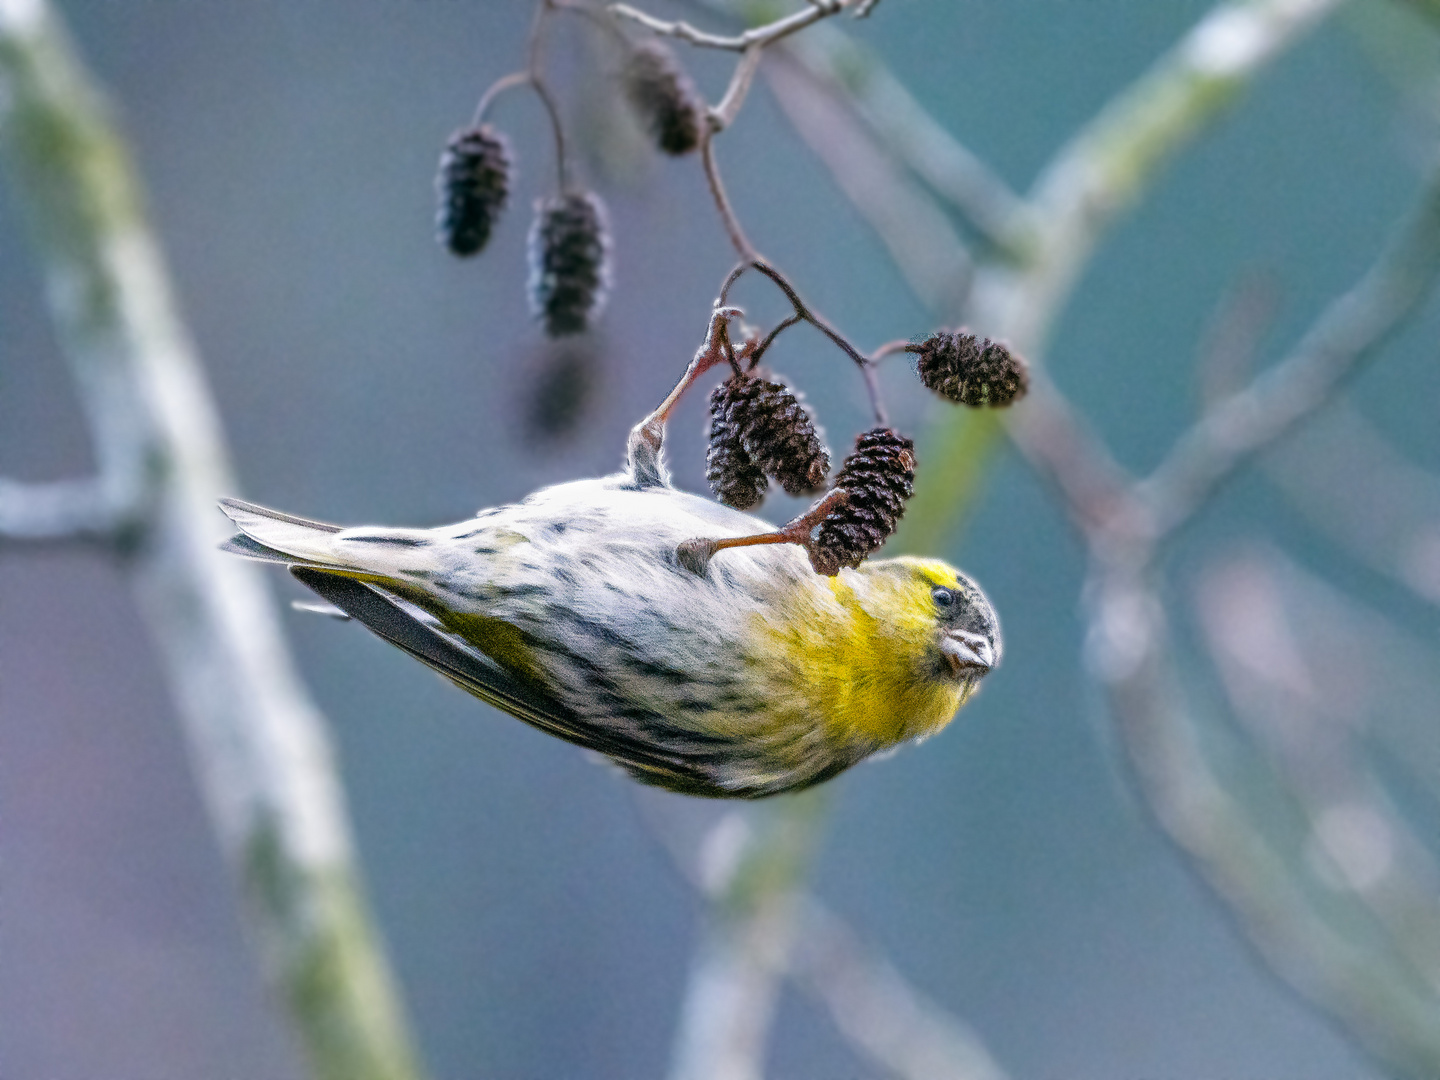
[[[677,491],[635,429],[625,471],[438,528],[340,528],[239,500],[225,547],[288,566],[462,690],[690,795],[819,783],[949,723],[999,661],[995,612],[933,559],[815,573],[769,530]]]

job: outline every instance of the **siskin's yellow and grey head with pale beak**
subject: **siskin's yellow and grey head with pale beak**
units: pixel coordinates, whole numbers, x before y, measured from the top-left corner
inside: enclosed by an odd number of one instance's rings
[[[999,621],[981,588],[939,559],[873,560],[858,573],[863,606],[896,626],[927,675],[965,696],[1001,660]]]

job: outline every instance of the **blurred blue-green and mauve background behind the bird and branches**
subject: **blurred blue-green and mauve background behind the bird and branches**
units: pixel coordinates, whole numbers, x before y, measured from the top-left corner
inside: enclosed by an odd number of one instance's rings
[[[1205,9],[884,0],[847,29],[1025,189]],[[62,10],[134,140],[225,416],[243,491],[216,495],[341,523],[464,517],[613,468],[697,344],[732,253],[697,163],[635,153],[595,89],[583,27],[556,35],[552,68],[592,132],[580,167],[612,210],[616,281],[599,330],[556,350],[524,302],[526,210],[552,181],[533,101],[495,112],[521,179],[487,253],[459,264],[431,226],[439,147],[520,63],[530,3]],[[1237,279],[1276,282],[1274,357],[1405,207],[1437,144],[1423,85],[1397,78],[1428,32],[1400,17],[1369,0],[1302,42],[1106,240],[1051,364],[1126,464],[1152,465],[1191,418],[1197,343]],[[1414,53],[1395,50],[1397,33]],[[717,94],[724,69],[691,59]],[[854,340],[933,328],[763,86],[717,145],[756,243]],[[753,284],[740,301],[780,312]],[[1351,395],[1430,469],[1436,330],[1431,304]],[[773,359],[832,446],[865,426],[860,380],[818,336],[789,334]],[[901,364],[887,392],[910,431],[945,408]],[[671,426],[691,490],[703,402]],[[42,480],[88,464],[39,275],[0,196],[0,468]],[[772,497],[766,511],[791,508]],[[1187,534],[1176,595],[1261,543],[1414,639],[1440,632],[1436,608],[1318,539],[1254,475]],[[816,893],[1017,1077],[1377,1076],[1257,960],[1132,796],[1081,674],[1081,553],[1027,468],[999,455],[978,513],[936,554],[995,600],[1005,665],[962,723],[834,783]],[[275,589],[300,593],[278,575]],[[662,1074],[700,904],[645,824],[655,808],[354,626],[295,613],[288,629],[333,724],[435,1076]],[[1440,720],[1417,685],[1403,707]],[[1440,821],[1423,792],[1413,809]],[[873,1074],[789,992],[770,1071]],[[130,592],[86,550],[0,553],[0,1076],[298,1076]]]

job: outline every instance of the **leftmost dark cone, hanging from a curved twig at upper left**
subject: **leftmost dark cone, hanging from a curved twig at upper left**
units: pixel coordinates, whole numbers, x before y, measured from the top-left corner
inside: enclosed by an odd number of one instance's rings
[[[488,124],[456,131],[435,176],[435,235],[452,255],[477,255],[510,196],[510,145]]]

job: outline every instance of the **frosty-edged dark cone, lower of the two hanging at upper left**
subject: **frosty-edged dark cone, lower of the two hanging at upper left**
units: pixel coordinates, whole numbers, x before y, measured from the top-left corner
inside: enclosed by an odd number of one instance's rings
[[[611,238],[593,192],[536,204],[530,226],[530,310],[550,337],[579,334],[605,307]]]

